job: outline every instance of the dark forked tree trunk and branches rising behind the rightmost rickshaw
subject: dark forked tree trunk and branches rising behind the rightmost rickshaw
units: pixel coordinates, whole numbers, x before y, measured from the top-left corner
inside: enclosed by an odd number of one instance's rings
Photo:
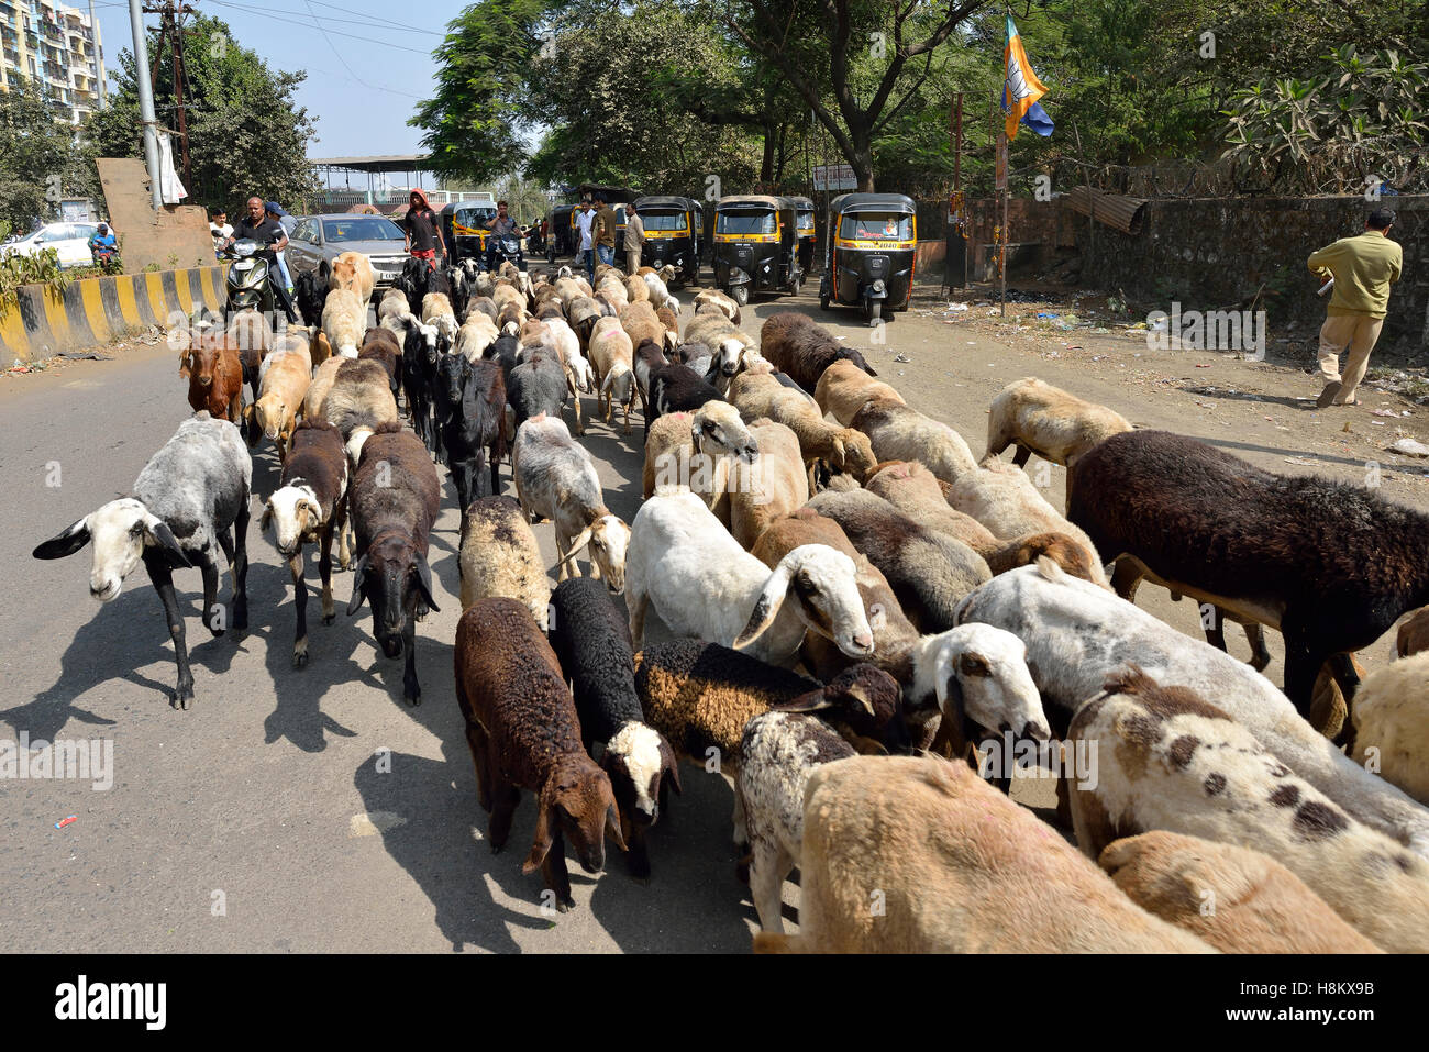
[[[937,49],[986,4],[939,0],[929,10],[920,0],[822,0],[812,7],[740,0],[726,24],[779,69],[833,136],[859,189],[872,192],[875,139],[915,97]],[[857,84],[850,74],[865,56],[875,71],[872,83]],[[825,70],[827,94],[820,84]]]

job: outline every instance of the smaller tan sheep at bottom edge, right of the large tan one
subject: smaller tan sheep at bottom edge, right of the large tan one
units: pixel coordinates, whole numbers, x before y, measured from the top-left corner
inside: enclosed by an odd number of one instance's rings
[[[1383,953],[1279,862],[1157,829],[1097,859],[1137,906],[1223,953]]]

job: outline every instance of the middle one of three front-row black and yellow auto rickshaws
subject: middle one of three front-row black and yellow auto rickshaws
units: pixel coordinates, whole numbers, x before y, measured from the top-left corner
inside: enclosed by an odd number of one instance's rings
[[[799,224],[787,197],[720,197],[714,207],[714,284],[740,306],[756,292],[799,294]]]

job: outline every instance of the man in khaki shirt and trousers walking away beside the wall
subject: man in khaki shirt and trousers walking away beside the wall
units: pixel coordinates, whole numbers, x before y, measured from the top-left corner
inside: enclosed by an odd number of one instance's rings
[[[1358,406],[1355,389],[1365,379],[1369,352],[1379,339],[1379,330],[1389,313],[1389,286],[1399,280],[1403,252],[1389,240],[1395,213],[1375,209],[1365,220],[1365,233],[1342,237],[1335,244],[1312,253],[1308,264],[1322,277],[1335,277],[1325,324],[1320,327],[1320,374],[1325,390],[1315,405]],[[1349,347],[1345,373],[1339,370],[1339,354]]]

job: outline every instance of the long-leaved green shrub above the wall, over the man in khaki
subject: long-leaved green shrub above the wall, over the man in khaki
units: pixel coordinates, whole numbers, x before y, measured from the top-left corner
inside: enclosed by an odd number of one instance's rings
[[[1363,190],[1366,180],[1429,189],[1425,170],[1429,66],[1393,50],[1362,57],[1355,44],[1323,56],[1320,76],[1260,80],[1238,91],[1226,152],[1268,187]]]

